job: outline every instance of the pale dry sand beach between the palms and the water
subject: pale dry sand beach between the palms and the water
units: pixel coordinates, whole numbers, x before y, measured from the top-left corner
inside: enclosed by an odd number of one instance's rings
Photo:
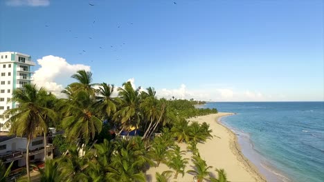
[[[232,114],[219,112],[190,119],[190,121],[198,121],[199,123],[206,122],[210,125],[210,129],[213,130],[213,139],[208,139],[206,143],[197,144],[201,158],[206,161],[207,165],[213,166],[213,169],[210,170],[213,176],[217,176],[215,168],[223,168],[227,174],[228,181],[231,182],[265,181],[264,176],[258,172],[258,169],[243,156],[237,143],[236,135],[218,121],[220,117]],[[178,145],[181,147],[181,150],[187,150],[186,143],[178,143]],[[186,156],[184,156],[190,159],[185,171],[193,170],[191,156],[191,152],[186,152]],[[172,169],[163,163],[159,165],[159,168],[150,168],[146,172],[147,181],[156,181],[155,172],[161,174],[165,170]],[[188,173],[185,173],[183,177],[179,174],[177,179],[173,179],[172,176],[171,181],[191,182],[193,181],[192,177],[192,174]]]

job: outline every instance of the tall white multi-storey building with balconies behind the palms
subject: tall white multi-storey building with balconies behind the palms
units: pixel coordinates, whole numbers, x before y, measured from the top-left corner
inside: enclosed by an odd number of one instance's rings
[[[30,55],[0,52],[0,132],[9,130],[3,125],[8,120],[3,112],[17,106],[16,103],[8,103],[12,90],[30,84],[33,65],[36,64],[31,61]]]

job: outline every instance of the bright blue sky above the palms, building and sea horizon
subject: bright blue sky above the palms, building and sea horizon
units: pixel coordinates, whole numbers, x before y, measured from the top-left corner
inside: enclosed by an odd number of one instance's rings
[[[4,0],[0,52],[42,59],[35,70],[45,74],[60,57],[58,72],[82,64],[94,82],[133,78],[161,97],[324,101],[323,7],[321,0]],[[51,75],[63,87],[72,81]]]

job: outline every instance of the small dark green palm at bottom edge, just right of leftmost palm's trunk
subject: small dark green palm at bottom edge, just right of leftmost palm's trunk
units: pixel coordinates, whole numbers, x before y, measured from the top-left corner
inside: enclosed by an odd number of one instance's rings
[[[41,176],[40,182],[59,182],[63,179],[60,172],[60,163],[55,159],[47,159],[44,169],[39,168],[37,165],[32,166],[38,168]]]

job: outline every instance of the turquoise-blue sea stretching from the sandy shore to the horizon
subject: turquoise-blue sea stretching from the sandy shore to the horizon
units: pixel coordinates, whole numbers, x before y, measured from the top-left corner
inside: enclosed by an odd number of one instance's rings
[[[222,123],[239,136],[243,154],[261,172],[267,169],[279,176],[265,175],[268,181],[324,181],[324,102],[227,102],[204,107],[236,113],[223,117]]]

